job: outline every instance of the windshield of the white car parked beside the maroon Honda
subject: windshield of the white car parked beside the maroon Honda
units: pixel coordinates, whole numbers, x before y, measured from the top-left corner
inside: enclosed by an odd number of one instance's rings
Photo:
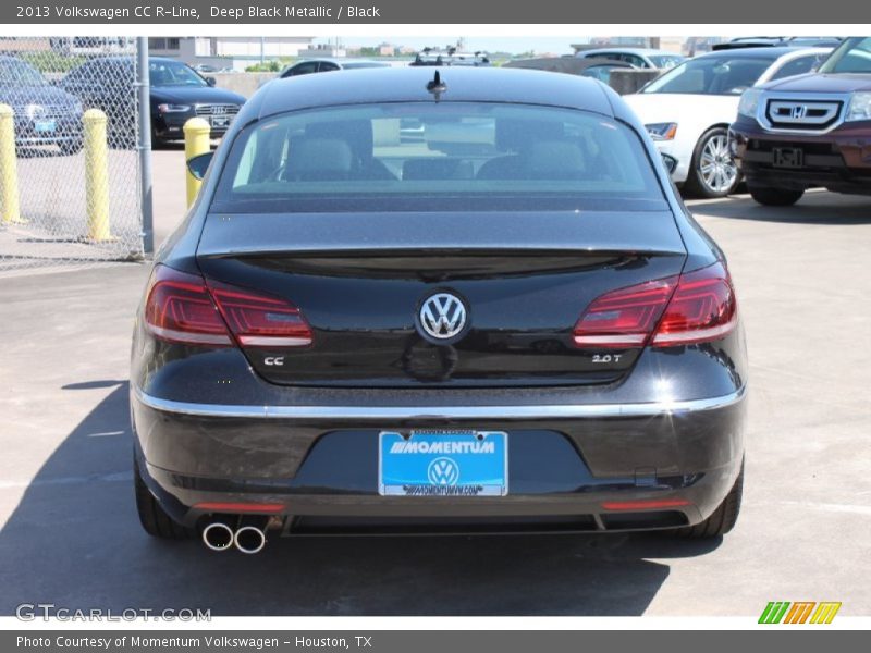
[[[775,57],[700,57],[658,77],[641,93],[741,95],[757,83]]]

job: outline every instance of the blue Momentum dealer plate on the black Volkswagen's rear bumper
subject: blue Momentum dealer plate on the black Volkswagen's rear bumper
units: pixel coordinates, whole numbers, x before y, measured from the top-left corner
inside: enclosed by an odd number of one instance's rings
[[[384,496],[504,496],[508,435],[502,431],[382,431],[378,493]]]

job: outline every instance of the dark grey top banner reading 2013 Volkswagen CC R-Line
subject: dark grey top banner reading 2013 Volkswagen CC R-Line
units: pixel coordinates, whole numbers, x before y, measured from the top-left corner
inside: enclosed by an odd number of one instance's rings
[[[649,2],[469,2],[468,0],[11,0],[0,23],[15,24],[851,24],[871,22],[871,3],[857,0],[698,0]],[[776,29],[775,29],[776,32]],[[783,29],[781,30],[783,32]]]

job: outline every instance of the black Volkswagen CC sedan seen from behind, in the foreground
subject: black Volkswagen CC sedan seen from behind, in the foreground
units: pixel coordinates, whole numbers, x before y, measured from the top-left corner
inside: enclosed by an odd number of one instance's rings
[[[248,553],[270,530],[720,535],[746,387],[723,252],[603,84],[281,79],[144,293],[139,516]]]

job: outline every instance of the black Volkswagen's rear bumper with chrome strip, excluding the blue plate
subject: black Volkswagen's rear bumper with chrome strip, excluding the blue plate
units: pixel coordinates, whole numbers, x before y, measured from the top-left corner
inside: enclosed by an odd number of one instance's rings
[[[280,506],[285,526],[375,532],[648,530],[697,523],[744,453],[745,389],[689,402],[540,406],[241,406],[168,402],[134,389],[145,480],[180,522],[203,503]],[[380,496],[381,430],[508,433],[508,494]],[[646,507],[611,502],[660,502]],[[514,525],[514,527],[512,527]],[[317,530],[317,529],[316,529]]]

